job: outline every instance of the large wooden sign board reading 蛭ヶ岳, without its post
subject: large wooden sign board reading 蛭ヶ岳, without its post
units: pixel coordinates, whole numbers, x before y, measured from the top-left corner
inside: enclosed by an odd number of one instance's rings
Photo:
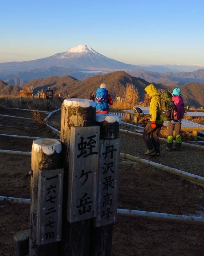
[[[67,205],[70,222],[96,216],[99,133],[98,126],[71,128]]]

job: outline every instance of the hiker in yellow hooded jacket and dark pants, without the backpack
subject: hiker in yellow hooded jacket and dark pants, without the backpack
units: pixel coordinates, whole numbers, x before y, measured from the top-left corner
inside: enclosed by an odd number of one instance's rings
[[[143,139],[148,149],[144,155],[159,158],[160,143],[158,135],[164,123],[164,121],[160,119],[160,93],[153,84],[149,84],[144,90],[147,92],[150,99],[149,114],[151,116],[143,131]],[[151,138],[150,134],[152,135]]]

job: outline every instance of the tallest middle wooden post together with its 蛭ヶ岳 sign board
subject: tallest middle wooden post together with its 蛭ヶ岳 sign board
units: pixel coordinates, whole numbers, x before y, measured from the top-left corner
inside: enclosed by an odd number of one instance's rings
[[[90,219],[87,218],[93,218],[96,214],[92,204],[94,205],[95,200],[93,197],[96,177],[94,168],[98,167],[96,166],[98,161],[94,163],[93,159],[89,158],[92,155],[94,159],[98,157],[96,141],[97,136],[99,139],[99,127],[95,126],[95,115],[95,103],[92,100],[65,99],[62,103],[61,142],[64,188],[60,256],[89,256]],[[73,144],[75,144],[75,150]],[[85,166],[86,158],[90,159],[88,166]],[[89,182],[89,177],[92,183]],[[90,195],[87,184],[92,191]],[[75,191],[74,188],[76,188]]]

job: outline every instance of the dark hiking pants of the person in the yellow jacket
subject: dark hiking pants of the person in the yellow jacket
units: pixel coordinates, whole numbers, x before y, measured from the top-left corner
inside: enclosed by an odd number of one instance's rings
[[[162,124],[156,123],[156,128],[152,128],[151,123],[147,123],[142,133],[144,142],[148,150],[154,149],[156,153],[160,153],[159,132]],[[152,137],[150,138],[150,135]]]

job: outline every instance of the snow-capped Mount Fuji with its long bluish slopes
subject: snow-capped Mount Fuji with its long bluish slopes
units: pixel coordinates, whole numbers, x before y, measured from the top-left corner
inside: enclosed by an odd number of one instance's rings
[[[78,45],[66,52],[56,53],[50,57],[31,61],[0,63],[0,74],[11,74],[11,72],[27,71],[45,66],[72,68],[78,71],[87,69],[98,71],[135,70],[139,68],[136,65],[105,57],[87,45]]]

